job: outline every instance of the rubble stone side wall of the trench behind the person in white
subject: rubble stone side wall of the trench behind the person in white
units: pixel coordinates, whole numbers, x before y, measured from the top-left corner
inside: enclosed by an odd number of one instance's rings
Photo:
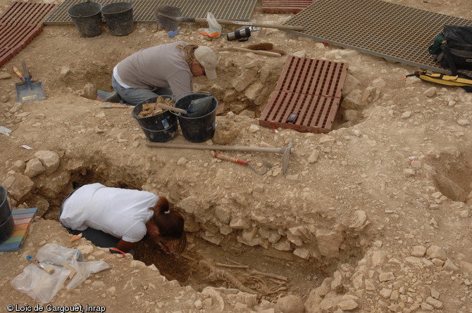
[[[154,162],[154,166],[159,167],[156,163],[159,162]],[[58,220],[63,198],[82,184],[100,182],[106,186],[151,191],[168,197],[184,215],[190,247],[201,241],[213,247],[216,254],[217,251],[230,255],[247,253],[249,258],[261,258],[261,262],[271,260],[276,263],[275,268],[290,268],[288,274],[290,271],[306,273],[312,281],[307,286],[310,289],[332,276],[342,264],[355,267],[371,243],[368,238],[373,238],[366,234],[368,221],[361,211],[356,212],[354,222],[349,225],[319,212],[303,218],[278,213],[264,215],[261,212],[278,212],[278,206],[270,201],[264,203],[268,207],[263,211],[262,203],[255,204],[257,198],[271,198],[267,192],[270,189],[262,190],[264,194],[257,196],[256,190],[262,187],[254,187],[253,200],[238,194],[212,198],[209,195],[216,190],[211,186],[208,194],[192,193],[195,184],[192,177],[170,178],[165,171],[159,174],[152,165],[120,167],[113,158],[101,153],[38,151],[30,160],[8,165],[11,169],[4,184],[16,208],[39,207],[43,218]]]

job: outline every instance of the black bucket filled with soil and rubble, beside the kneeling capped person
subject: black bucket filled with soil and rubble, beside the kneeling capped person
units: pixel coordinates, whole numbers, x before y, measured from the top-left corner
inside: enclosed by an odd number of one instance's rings
[[[162,98],[172,98],[171,96],[161,96]],[[173,139],[178,130],[178,120],[175,115],[169,110],[156,115],[147,117],[138,117],[139,112],[142,111],[142,106],[145,103],[154,103],[156,98],[150,98],[139,102],[135,108],[132,109],[131,115],[135,117],[137,124],[147,137],[147,140],[152,142],[166,142]]]

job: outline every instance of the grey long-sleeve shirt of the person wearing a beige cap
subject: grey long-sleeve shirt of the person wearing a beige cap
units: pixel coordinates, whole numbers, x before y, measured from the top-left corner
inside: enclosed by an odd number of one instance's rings
[[[187,42],[161,44],[133,53],[118,63],[120,79],[135,89],[170,87],[175,96],[192,91],[192,72],[182,58],[185,53],[177,48],[179,44],[185,46]]]

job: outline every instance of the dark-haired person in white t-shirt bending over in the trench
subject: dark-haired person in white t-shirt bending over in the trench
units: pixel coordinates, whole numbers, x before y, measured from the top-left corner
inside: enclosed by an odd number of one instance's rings
[[[82,232],[94,245],[123,252],[149,234],[166,253],[173,253],[175,239],[184,236],[184,218],[170,210],[167,198],[98,183],[70,193],[59,219],[72,234]]]

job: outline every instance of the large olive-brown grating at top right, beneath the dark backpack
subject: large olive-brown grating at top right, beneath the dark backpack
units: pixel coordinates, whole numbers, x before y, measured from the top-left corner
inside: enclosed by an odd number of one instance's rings
[[[304,26],[299,34],[318,41],[450,74],[428,46],[444,25],[472,26],[472,20],[378,0],[315,0],[286,24]]]

